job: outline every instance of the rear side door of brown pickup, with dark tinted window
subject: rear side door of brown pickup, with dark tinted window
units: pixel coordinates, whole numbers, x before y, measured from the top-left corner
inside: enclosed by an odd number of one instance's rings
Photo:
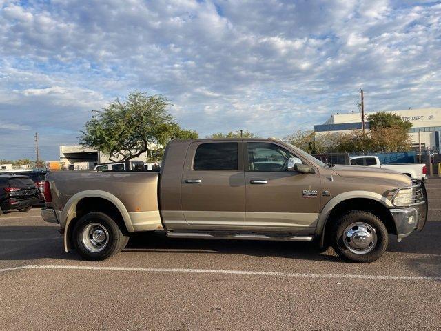
[[[198,141],[189,146],[181,181],[188,224],[245,225],[242,155],[240,141]]]

